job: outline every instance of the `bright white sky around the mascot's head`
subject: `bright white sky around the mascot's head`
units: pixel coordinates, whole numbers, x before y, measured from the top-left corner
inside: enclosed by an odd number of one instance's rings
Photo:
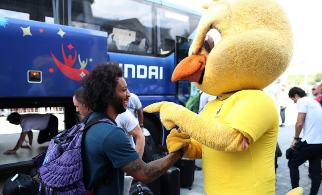
[[[205,13],[202,5],[211,0],[172,0],[171,2]],[[293,35],[294,53],[289,75],[322,72],[322,1],[277,0],[288,14]],[[305,67],[305,68],[304,68]]]

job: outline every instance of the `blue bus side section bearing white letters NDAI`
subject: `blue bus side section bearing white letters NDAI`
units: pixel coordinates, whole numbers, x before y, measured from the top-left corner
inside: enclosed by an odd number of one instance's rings
[[[123,76],[131,93],[146,97],[175,95],[175,83],[171,82],[175,69],[174,54],[166,58],[156,58],[110,52],[109,60],[117,61],[122,66]]]

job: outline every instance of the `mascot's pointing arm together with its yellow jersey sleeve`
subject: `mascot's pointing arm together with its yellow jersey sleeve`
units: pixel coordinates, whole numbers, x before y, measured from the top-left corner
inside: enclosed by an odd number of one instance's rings
[[[167,129],[178,125],[196,141],[217,151],[238,152],[252,144],[272,123],[274,102],[260,90],[247,90],[235,94],[223,123],[211,122],[204,117],[172,102],[160,102],[146,108],[146,112],[160,112]],[[230,105],[233,104],[233,105]],[[261,109],[259,109],[261,108]],[[244,142],[245,136],[245,142]]]

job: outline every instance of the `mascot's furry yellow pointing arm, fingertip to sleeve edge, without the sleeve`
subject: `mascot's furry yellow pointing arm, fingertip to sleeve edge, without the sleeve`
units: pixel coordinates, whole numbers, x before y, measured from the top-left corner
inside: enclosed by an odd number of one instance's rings
[[[172,102],[155,103],[145,107],[144,111],[159,111],[160,119],[166,129],[178,125],[190,137],[215,150],[231,152],[243,150],[242,132],[219,122],[213,123],[178,104]],[[248,134],[245,136],[251,138]],[[194,146],[200,147],[201,144],[191,145],[190,150],[195,148]],[[248,143],[246,142],[247,147]],[[201,152],[201,149],[198,151]]]

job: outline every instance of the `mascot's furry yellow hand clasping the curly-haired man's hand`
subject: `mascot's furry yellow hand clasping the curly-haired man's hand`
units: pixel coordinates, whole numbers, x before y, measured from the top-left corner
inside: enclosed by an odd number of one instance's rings
[[[189,145],[191,140],[189,136],[182,132],[181,129],[172,129],[170,134],[166,137],[166,146],[169,153],[180,150],[182,147]]]

